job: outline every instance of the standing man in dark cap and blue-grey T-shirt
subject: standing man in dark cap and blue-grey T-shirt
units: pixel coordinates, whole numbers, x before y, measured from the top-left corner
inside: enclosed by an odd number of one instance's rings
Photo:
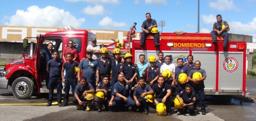
[[[80,82],[80,73],[82,69],[82,76],[86,77],[87,81],[91,83],[94,90],[96,90],[96,83],[100,81],[99,65],[96,60],[92,58],[93,52],[87,50],[86,59],[82,60],[79,64],[78,69],[78,82]],[[97,75],[97,80],[95,75]]]

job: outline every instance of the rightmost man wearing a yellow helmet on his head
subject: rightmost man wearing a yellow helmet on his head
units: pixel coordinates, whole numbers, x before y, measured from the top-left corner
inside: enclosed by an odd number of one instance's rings
[[[157,79],[160,75],[160,68],[156,66],[156,57],[150,56],[148,59],[150,63],[150,67],[147,67],[142,75],[146,79],[146,82],[152,87],[155,83],[157,83]]]

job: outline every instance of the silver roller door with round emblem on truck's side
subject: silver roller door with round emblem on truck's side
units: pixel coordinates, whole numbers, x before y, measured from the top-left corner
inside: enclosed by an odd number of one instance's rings
[[[243,53],[219,53],[219,92],[241,92]]]

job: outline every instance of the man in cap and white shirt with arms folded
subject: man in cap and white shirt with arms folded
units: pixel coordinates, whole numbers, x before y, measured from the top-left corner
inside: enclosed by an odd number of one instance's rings
[[[100,57],[100,46],[97,45],[97,40],[96,38],[93,38],[91,40],[91,45],[88,45],[87,48],[86,48],[86,51],[88,50],[91,50],[93,56],[92,56],[92,59],[96,60],[97,58]]]

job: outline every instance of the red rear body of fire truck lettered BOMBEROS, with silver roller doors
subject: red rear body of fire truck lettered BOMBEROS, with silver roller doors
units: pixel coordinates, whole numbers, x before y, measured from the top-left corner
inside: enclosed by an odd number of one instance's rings
[[[242,95],[245,96],[246,81],[246,42],[228,42],[228,48],[222,48],[223,38],[220,36],[218,45],[212,43],[210,33],[160,33],[160,44],[154,47],[152,35],[146,38],[145,47],[141,48],[140,40],[130,42],[130,53],[133,62],[139,62],[139,55],[145,58],[158,52],[172,56],[172,63],[177,66],[177,58],[183,58],[187,63],[187,56],[193,55],[194,62],[200,60],[201,68],[206,71],[204,91],[207,95]],[[123,51],[129,50],[129,41],[124,41]],[[111,49],[111,48],[109,48]]]

